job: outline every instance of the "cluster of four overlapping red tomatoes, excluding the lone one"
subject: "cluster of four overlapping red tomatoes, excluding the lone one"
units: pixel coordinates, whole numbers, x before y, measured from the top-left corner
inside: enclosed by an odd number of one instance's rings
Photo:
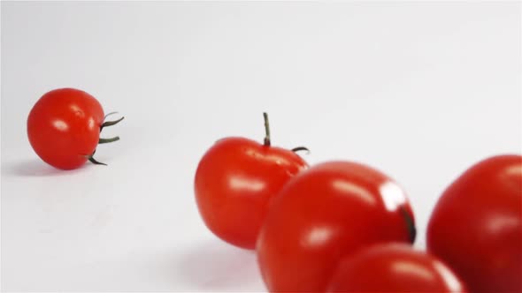
[[[230,244],[255,249],[272,292],[522,292],[522,156],[499,155],[449,185],[414,249],[403,189],[356,162],[220,139],[203,155],[196,203]]]

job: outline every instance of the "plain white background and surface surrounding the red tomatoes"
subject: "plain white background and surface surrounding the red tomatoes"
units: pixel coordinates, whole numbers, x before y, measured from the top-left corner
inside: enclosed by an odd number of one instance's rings
[[[219,138],[365,162],[411,197],[418,248],[436,199],[520,153],[520,3],[2,3],[2,289],[263,291],[255,254],[197,214]],[[50,89],[123,123],[108,167],[52,169],[27,141]]]

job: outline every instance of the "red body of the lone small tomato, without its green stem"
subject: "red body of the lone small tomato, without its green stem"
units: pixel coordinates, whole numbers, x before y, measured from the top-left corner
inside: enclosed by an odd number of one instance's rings
[[[60,88],[43,94],[27,117],[27,136],[35,153],[58,169],[76,169],[93,154],[104,109],[86,92]]]

